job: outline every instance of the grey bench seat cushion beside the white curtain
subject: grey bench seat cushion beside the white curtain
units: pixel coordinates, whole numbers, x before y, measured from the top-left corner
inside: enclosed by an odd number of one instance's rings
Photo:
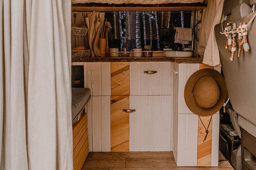
[[[72,121],[91,99],[91,90],[88,88],[72,88]]]

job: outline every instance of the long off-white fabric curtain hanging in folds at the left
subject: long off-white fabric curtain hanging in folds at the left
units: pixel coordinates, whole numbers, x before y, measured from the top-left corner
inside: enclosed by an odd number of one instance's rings
[[[0,169],[73,169],[71,3],[0,10]]]

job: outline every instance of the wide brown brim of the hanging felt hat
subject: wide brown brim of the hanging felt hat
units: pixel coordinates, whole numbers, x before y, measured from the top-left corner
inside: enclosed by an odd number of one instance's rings
[[[216,81],[220,89],[219,100],[214,106],[209,108],[203,108],[198,106],[194,100],[193,93],[192,93],[197,80],[199,80],[203,76],[211,76],[212,78],[214,78],[214,80]],[[227,86],[224,78],[218,71],[210,68],[204,68],[194,72],[188,78],[188,81],[184,89],[184,98],[189,110],[199,116],[210,116],[216,113],[223,106],[223,103],[225,103],[226,97],[227,97]]]

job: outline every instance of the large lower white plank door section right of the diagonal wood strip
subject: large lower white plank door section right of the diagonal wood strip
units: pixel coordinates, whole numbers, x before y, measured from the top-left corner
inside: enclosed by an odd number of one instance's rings
[[[130,151],[171,151],[171,95],[129,98]]]

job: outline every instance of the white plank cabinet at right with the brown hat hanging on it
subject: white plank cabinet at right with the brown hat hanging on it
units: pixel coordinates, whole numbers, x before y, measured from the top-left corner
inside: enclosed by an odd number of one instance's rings
[[[203,142],[205,129],[184,99],[186,82],[200,66],[173,63],[172,147],[177,166],[218,166],[219,114],[212,116],[207,141]],[[211,116],[200,117],[208,125]]]

